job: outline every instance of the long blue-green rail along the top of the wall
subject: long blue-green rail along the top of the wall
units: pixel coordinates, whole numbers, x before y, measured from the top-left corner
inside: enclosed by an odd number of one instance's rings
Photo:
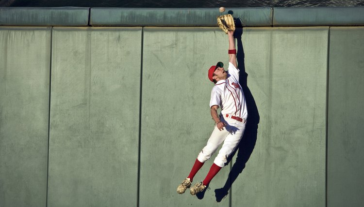
[[[217,27],[232,14],[237,27],[364,25],[364,7],[88,8],[0,7],[0,26]],[[241,25],[240,25],[241,23]]]

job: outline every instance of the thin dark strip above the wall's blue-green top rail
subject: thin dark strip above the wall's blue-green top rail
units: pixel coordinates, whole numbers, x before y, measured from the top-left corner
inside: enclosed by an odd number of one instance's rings
[[[214,8],[214,7],[343,7],[364,6],[363,0],[0,0],[0,6],[14,7],[127,7],[127,8]]]

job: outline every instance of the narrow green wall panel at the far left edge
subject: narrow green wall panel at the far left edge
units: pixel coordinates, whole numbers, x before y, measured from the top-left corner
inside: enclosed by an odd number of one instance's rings
[[[0,206],[46,205],[51,28],[0,27]]]

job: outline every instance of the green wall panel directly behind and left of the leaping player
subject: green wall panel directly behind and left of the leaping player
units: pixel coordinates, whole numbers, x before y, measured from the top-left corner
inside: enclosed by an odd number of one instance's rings
[[[209,107],[214,84],[207,71],[217,61],[228,62],[227,50],[228,36],[216,28],[144,29],[141,207],[229,205],[229,199],[217,204],[214,193],[229,167],[212,180],[203,201],[189,191],[176,192],[214,129]],[[194,183],[205,178],[213,161],[205,163]]]

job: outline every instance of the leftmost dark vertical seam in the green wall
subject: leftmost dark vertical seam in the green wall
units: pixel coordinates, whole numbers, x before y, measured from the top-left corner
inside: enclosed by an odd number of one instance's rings
[[[46,186],[46,207],[48,206],[48,177],[50,165],[50,90],[52,81],[52,40],[53,40],[53,27],[50,28],[50,85],[49,85],[49,100],[48,100],[48,145],[47,145],[47,186]]]

